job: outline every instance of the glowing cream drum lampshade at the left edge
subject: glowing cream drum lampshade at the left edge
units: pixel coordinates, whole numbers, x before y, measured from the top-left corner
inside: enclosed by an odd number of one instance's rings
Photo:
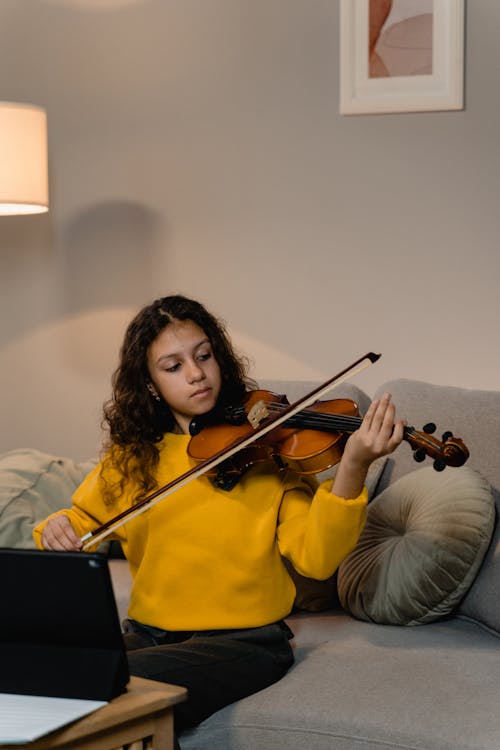
[[[48,210],[46,112],[32,104],[0,102],[0,214]]]

